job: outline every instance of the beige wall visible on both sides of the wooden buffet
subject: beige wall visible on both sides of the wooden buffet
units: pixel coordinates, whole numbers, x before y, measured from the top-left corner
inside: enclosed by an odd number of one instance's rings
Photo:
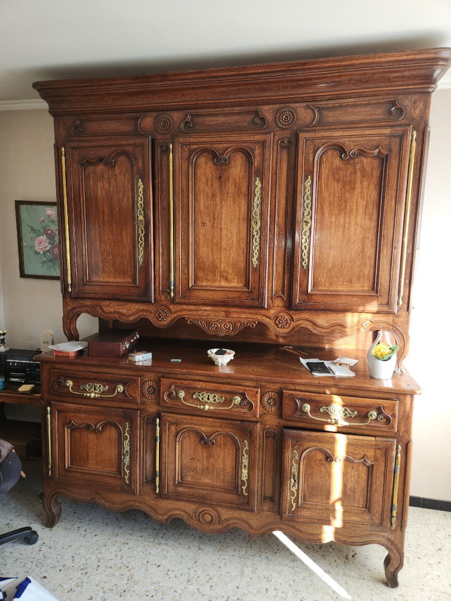
[[[451,231],[451,90],[432,95],[431,145],[425,205],[412,316],[411,352],[407,367],[424,394],[416,402],[411,494],[451,500],[451,463],[447,439],[451,401],[447,391],[449,368],[444,364],[451,338],[447,303],[451,288],[447,274]],[[0,111],[0,326],[8,329],[10,346],[31,348],[41,331],[51,328],[56,340],[61,329],[61,294],[57,281],[20,279],[17,258],[14,200],[55,199],[52,118],[45,110]],[[81,334],[97,331],[91,317],[79,319]],[[425,350],[427,345],[427,350]],[[432,359],[442,368],[429,369]]]

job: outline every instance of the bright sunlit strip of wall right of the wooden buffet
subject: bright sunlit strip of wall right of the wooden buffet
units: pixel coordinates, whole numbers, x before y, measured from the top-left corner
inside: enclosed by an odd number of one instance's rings
[[[451,500],[451,90],[432,94],[431,142],[406,366],[423,388],[414,413],[411,493]],[[432,367],[434,364],[434,367]]]

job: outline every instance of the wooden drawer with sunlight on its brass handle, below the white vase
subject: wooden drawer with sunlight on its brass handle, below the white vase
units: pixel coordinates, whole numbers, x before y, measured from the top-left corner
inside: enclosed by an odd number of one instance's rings
[[[308,426],[329,425],[357,432],[380,430],[388,434],[396,432],[397,401],[284,390],[282,417]]]

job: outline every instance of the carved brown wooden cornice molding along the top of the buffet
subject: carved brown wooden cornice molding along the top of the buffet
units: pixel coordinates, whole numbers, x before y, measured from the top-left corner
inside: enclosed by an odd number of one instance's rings
[[[431,92],[449,67],[446,48],[342,56],[254,66],[97,80],[35,82],[51,114],[132,110],[170,111],[234,103],[293,103],[321,98]],[[393,82],[396,82],[393,83]],[[201,91],[201,93],[200,93]],[[114,99],[113,99],[114,96]],[[195,99],[195,100],[194,100]],[[227,106],[227,105],[226,105]]]

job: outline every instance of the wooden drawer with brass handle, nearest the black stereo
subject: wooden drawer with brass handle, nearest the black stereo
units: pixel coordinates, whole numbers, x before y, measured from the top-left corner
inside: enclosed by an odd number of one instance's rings
[[[90,402],[96,405],[115,403],[139,404],[140,379],[132,376],[114,377],[106,374],[70,373],[70,371],[51,370],[50,393],[54,398],[75,403]]]

